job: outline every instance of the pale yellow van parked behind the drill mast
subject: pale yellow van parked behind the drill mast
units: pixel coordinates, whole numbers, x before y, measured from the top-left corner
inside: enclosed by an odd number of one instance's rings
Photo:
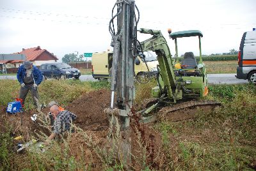
[[[145,52],[145,61],[151,75],[157,73],[158,61],[151,52]],[[113,52],[96,52],[92,54],[92,77],[95,79],[109,78],[109,70],[112,67]],[[139,56],[134,61],[134,71],[136,76],[145,75],[148,72],[146,63]]]

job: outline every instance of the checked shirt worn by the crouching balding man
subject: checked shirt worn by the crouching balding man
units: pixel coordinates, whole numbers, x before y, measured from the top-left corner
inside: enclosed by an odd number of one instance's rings
[[[53,132],[56,134],[63,133],[70,130],[70,124],[76,119],[76,115],[68,110],[60,111],[54,120]]]

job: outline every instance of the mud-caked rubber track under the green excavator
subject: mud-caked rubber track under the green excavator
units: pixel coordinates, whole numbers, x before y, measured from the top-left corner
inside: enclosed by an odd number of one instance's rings
[[[182,121],[193,119],[196,117],[196,112],[202,108],[204,112],[213,110],[215,107],[221,106],[218,101],[186,101],[161,108],[157,114],[148,117],[142,117],[141,123],[152,123],[154,121]]]

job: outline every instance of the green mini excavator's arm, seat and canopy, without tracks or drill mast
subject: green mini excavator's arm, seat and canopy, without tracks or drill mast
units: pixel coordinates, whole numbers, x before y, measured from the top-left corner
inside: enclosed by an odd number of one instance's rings
[[[175,57],[172,57],[170,48],[159,30],[140,29],[140,33],[151,34],[152,37],[141,42],[141,51],[156,52],[159,65],[157,66],[157,86],[152,89],[152,96],[156,104],[143,111],[148,114],[163,104],[174,104],[188,98],[202,98],[208,93],[205,64],[202,61],[201,38],[203,34],[198,30],[178,31],[170,38],[175,40]],[[186,52],[179,63],[177,38],[197,36],[199,40],[200,59],[196,62],[193,52]],[[151,102],[152,103],[152,102]],[[196,104],[195,104],[196,105]]]

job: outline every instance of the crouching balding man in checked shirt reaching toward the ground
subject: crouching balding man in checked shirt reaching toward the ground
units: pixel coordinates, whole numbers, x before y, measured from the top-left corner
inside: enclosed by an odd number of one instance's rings
[[[51,140],[65,131],[70,131],[71,123],[76,119],[76,115],[68,110],[60,111],[57,105],[50,108],[50,112],[54,117],[53,131],[51,135],[45,140],[45,145],[48,145]]]

